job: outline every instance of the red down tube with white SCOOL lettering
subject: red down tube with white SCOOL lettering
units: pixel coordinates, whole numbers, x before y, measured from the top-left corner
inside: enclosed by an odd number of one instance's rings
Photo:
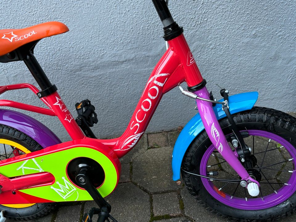
[[[132,150],[142,137],[162,95],[184,81],[182,70],[178,56],[169,48],[152,71],[127,129],[113,147],[118,158]]]

